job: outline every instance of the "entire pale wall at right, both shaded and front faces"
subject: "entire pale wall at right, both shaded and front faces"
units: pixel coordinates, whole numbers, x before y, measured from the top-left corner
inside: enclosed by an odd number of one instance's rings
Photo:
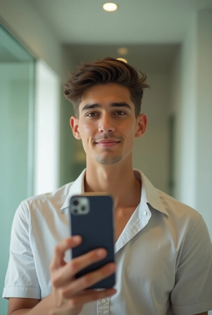
[[[175,198],[197,209],[212,238],[212,10],[193,15],[173,68]]]

